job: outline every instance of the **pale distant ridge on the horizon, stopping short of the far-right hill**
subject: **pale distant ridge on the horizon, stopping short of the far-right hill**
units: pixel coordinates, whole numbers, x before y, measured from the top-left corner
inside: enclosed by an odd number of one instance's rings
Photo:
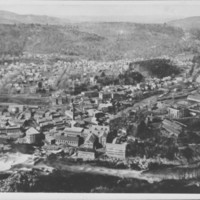
[[[148,16],[145,15],[112,15],[112,16],[63,16],[59,15],[46,16],[46,15],[33,15],[33,14],[17,14],[10,11],[0,10],[0,24],[15,24],[15,23],[38,23],[38,24],[65,24],[69,21],[74,22],[131,22],[131,23],[148,23],[148,24],[163,24],[166,21],[172,20],[171,17],[162,17],[162,16]]]

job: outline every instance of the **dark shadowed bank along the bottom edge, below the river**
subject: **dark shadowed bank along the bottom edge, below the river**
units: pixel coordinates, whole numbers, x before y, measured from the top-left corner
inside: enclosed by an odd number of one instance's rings
[[[38,171],[15,172],[0,180],[0,192],[70,193],[199,193],[199,181],[163,180],[149,183],[134,178],[58,170],[49,175]]]

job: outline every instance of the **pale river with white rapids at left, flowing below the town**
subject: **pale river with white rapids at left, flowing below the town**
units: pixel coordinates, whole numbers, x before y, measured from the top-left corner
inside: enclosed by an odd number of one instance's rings
[[[35,159],[30,154],[12,153],[5,154],[1,158],[1,166],[4,163],[7,169],[1,169],[1,180],[8,179],[16,172],[19,173],[35,173],[35,176],[51,176],[56,173],[69,172],[74,174],[92,174],[97,176],[111,176],[120,179],[138,179],[147,181],[148,183],[162,182],[165,180],[198,180],[200,177],[199,163],[196,165],[179,165],[171,166],[163,165],[161,168],[149,170],[133,170],[133,169],[118,169],[99,166],[97,161],[87,162],[79,161],[78,163],[73,158],[62,158],[59,154],[54,154],[56,159]],[[15,158],[15,159],[14,159]],[[37,161],[37,162],[36,162]],[[97,162],[97,163],[95,163]],[[94,164],[95,163],[95,164]],[[9,168],[10,165],[10,168]],[[5,178],[6,177],[6,178]]]

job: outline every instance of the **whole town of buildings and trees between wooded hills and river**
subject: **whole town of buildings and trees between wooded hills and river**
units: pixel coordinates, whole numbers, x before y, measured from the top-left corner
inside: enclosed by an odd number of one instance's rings
[[[36,57],[44,62],[1,64],[2,144],[137,170],[198,160],[200,81],[191,58],[174,60],[186,63],[178,75],[145,77],[144,59],[52,64]]]

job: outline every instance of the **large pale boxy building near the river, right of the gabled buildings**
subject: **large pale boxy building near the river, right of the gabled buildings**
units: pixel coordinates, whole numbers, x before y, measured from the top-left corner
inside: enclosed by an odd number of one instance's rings
[[[106,155],[119,159],[125,159],[127,156],[127,143],[113,144],[106,143]]]

